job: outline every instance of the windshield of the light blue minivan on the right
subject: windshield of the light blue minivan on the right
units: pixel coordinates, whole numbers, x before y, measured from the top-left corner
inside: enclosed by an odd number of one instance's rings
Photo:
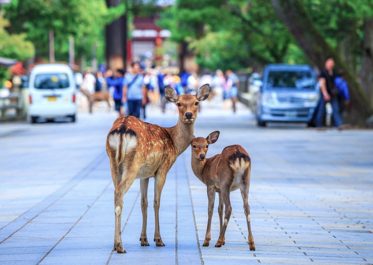
[[[267,89],[294,88],[314,89],[316,80],[310,71],[270,71],[267,80]]]

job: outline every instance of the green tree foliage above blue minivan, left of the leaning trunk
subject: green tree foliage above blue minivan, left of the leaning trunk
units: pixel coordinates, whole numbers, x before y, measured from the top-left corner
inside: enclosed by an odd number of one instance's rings
[[[189,42],[197,63],[211,70],[246,68],[253,60],[260,64],[307,61],[299,49],[298,58],[289,54],[295,41],[268,0],[179,0],[164,10],[158,23],[170,29],[173,41]]]

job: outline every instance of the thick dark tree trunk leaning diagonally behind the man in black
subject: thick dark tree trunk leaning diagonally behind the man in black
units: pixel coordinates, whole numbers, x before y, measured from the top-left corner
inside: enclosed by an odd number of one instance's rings
[[[369,100],[358,84],[355,74],[351,73],[338,53],[330,47],[325,38],[313,25],[310,17],[299,0],[271,0],[278,16],[294,36],[299,47],[308,58],[320,69],[324,68],[324,60],[331,56],[339,70],[345,72],[345,79],[350,87],[351,113],[348,121],[364,124],[372,114]]]

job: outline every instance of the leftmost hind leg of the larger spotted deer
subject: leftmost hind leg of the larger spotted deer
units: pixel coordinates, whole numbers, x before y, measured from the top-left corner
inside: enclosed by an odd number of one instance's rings
[[[122,239],[120,237],[120,221],[122,219],[122,208],[123,208],[123,196],[126,194],[128,189],[136,178],[139,171],[140,163],[132,163],[133,166],[127,167],[125,173],[120,181],[119,185],[114,191],[114,206],[115,206],[115,234],[114,234],[114,246],[118,253],[126,253],[122,245]]]

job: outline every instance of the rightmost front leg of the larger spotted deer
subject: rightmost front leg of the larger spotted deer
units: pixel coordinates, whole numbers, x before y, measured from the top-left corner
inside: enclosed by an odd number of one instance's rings
[[[164,182],[166,181],[166,173],[159,173],[154,178],[154,217],[156,221],[156,230],[154,232],[154,242],[156,242],[156,246],[164,247],[160,232],[159,232],[159,205],[161,199],[161,193],[164,186]]]

